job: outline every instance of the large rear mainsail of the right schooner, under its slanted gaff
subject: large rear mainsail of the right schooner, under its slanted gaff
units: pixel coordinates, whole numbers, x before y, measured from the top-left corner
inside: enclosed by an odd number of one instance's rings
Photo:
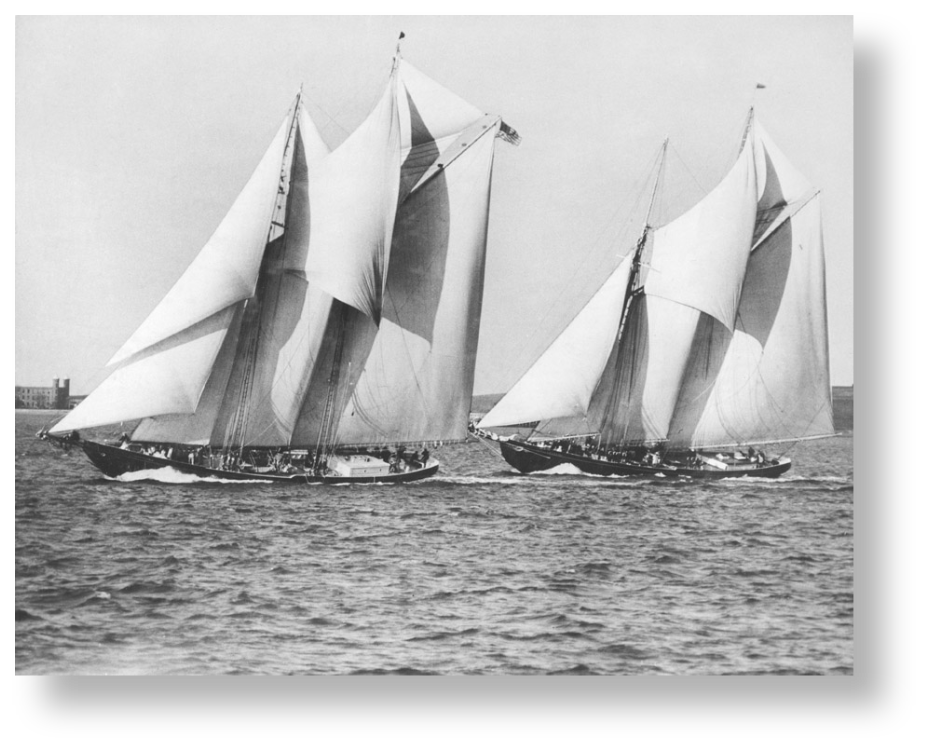
[[[818,195],[752,253],[736,330],[706,331],[671,445],[764,443],[833,432]]]

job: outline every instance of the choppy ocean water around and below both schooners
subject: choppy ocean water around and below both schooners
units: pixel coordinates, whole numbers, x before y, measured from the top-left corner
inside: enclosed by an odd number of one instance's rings
[[[16,412],[18,675],[850,675],[854,435],[777,480],[108,480]]]

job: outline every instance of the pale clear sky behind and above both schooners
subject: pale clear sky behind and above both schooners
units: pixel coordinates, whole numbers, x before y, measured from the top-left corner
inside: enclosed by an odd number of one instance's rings
[[[831,379],[854,382],[854,16],[17,16],[16,384],[84,394],[232,205],[301,83],[331,147],[405,59],[498,141],[475,393],[509,388],[749,107],[822,191]],[[757,88],[757,84],[765,88]]]

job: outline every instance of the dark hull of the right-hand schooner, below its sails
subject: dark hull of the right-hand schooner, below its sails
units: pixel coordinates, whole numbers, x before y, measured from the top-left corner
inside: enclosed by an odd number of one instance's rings
[[[564,453],[536,446],[526,441],[509,440],[500,443],[500,453],[507,463],[520,472],[540,472],[552,469],[560,464],[573,464],[582,472],[592,475],[663,475],[665,477],[696,477],[703,479],[720,479],[726,477],[779,477],[790,469],[790,460],[777,464],[746,464],[717,469],[709,465],[700,467],[670,466],[659,464],[627,464],[624,462],[607,462],[591,459],[580,454]]]

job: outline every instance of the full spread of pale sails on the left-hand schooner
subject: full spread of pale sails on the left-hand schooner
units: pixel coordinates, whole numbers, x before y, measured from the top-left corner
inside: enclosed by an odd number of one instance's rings
[[[497,116],[397,58],[326,147],[298,97],[213,237],[50,431],[330,451],[464,439]]]

